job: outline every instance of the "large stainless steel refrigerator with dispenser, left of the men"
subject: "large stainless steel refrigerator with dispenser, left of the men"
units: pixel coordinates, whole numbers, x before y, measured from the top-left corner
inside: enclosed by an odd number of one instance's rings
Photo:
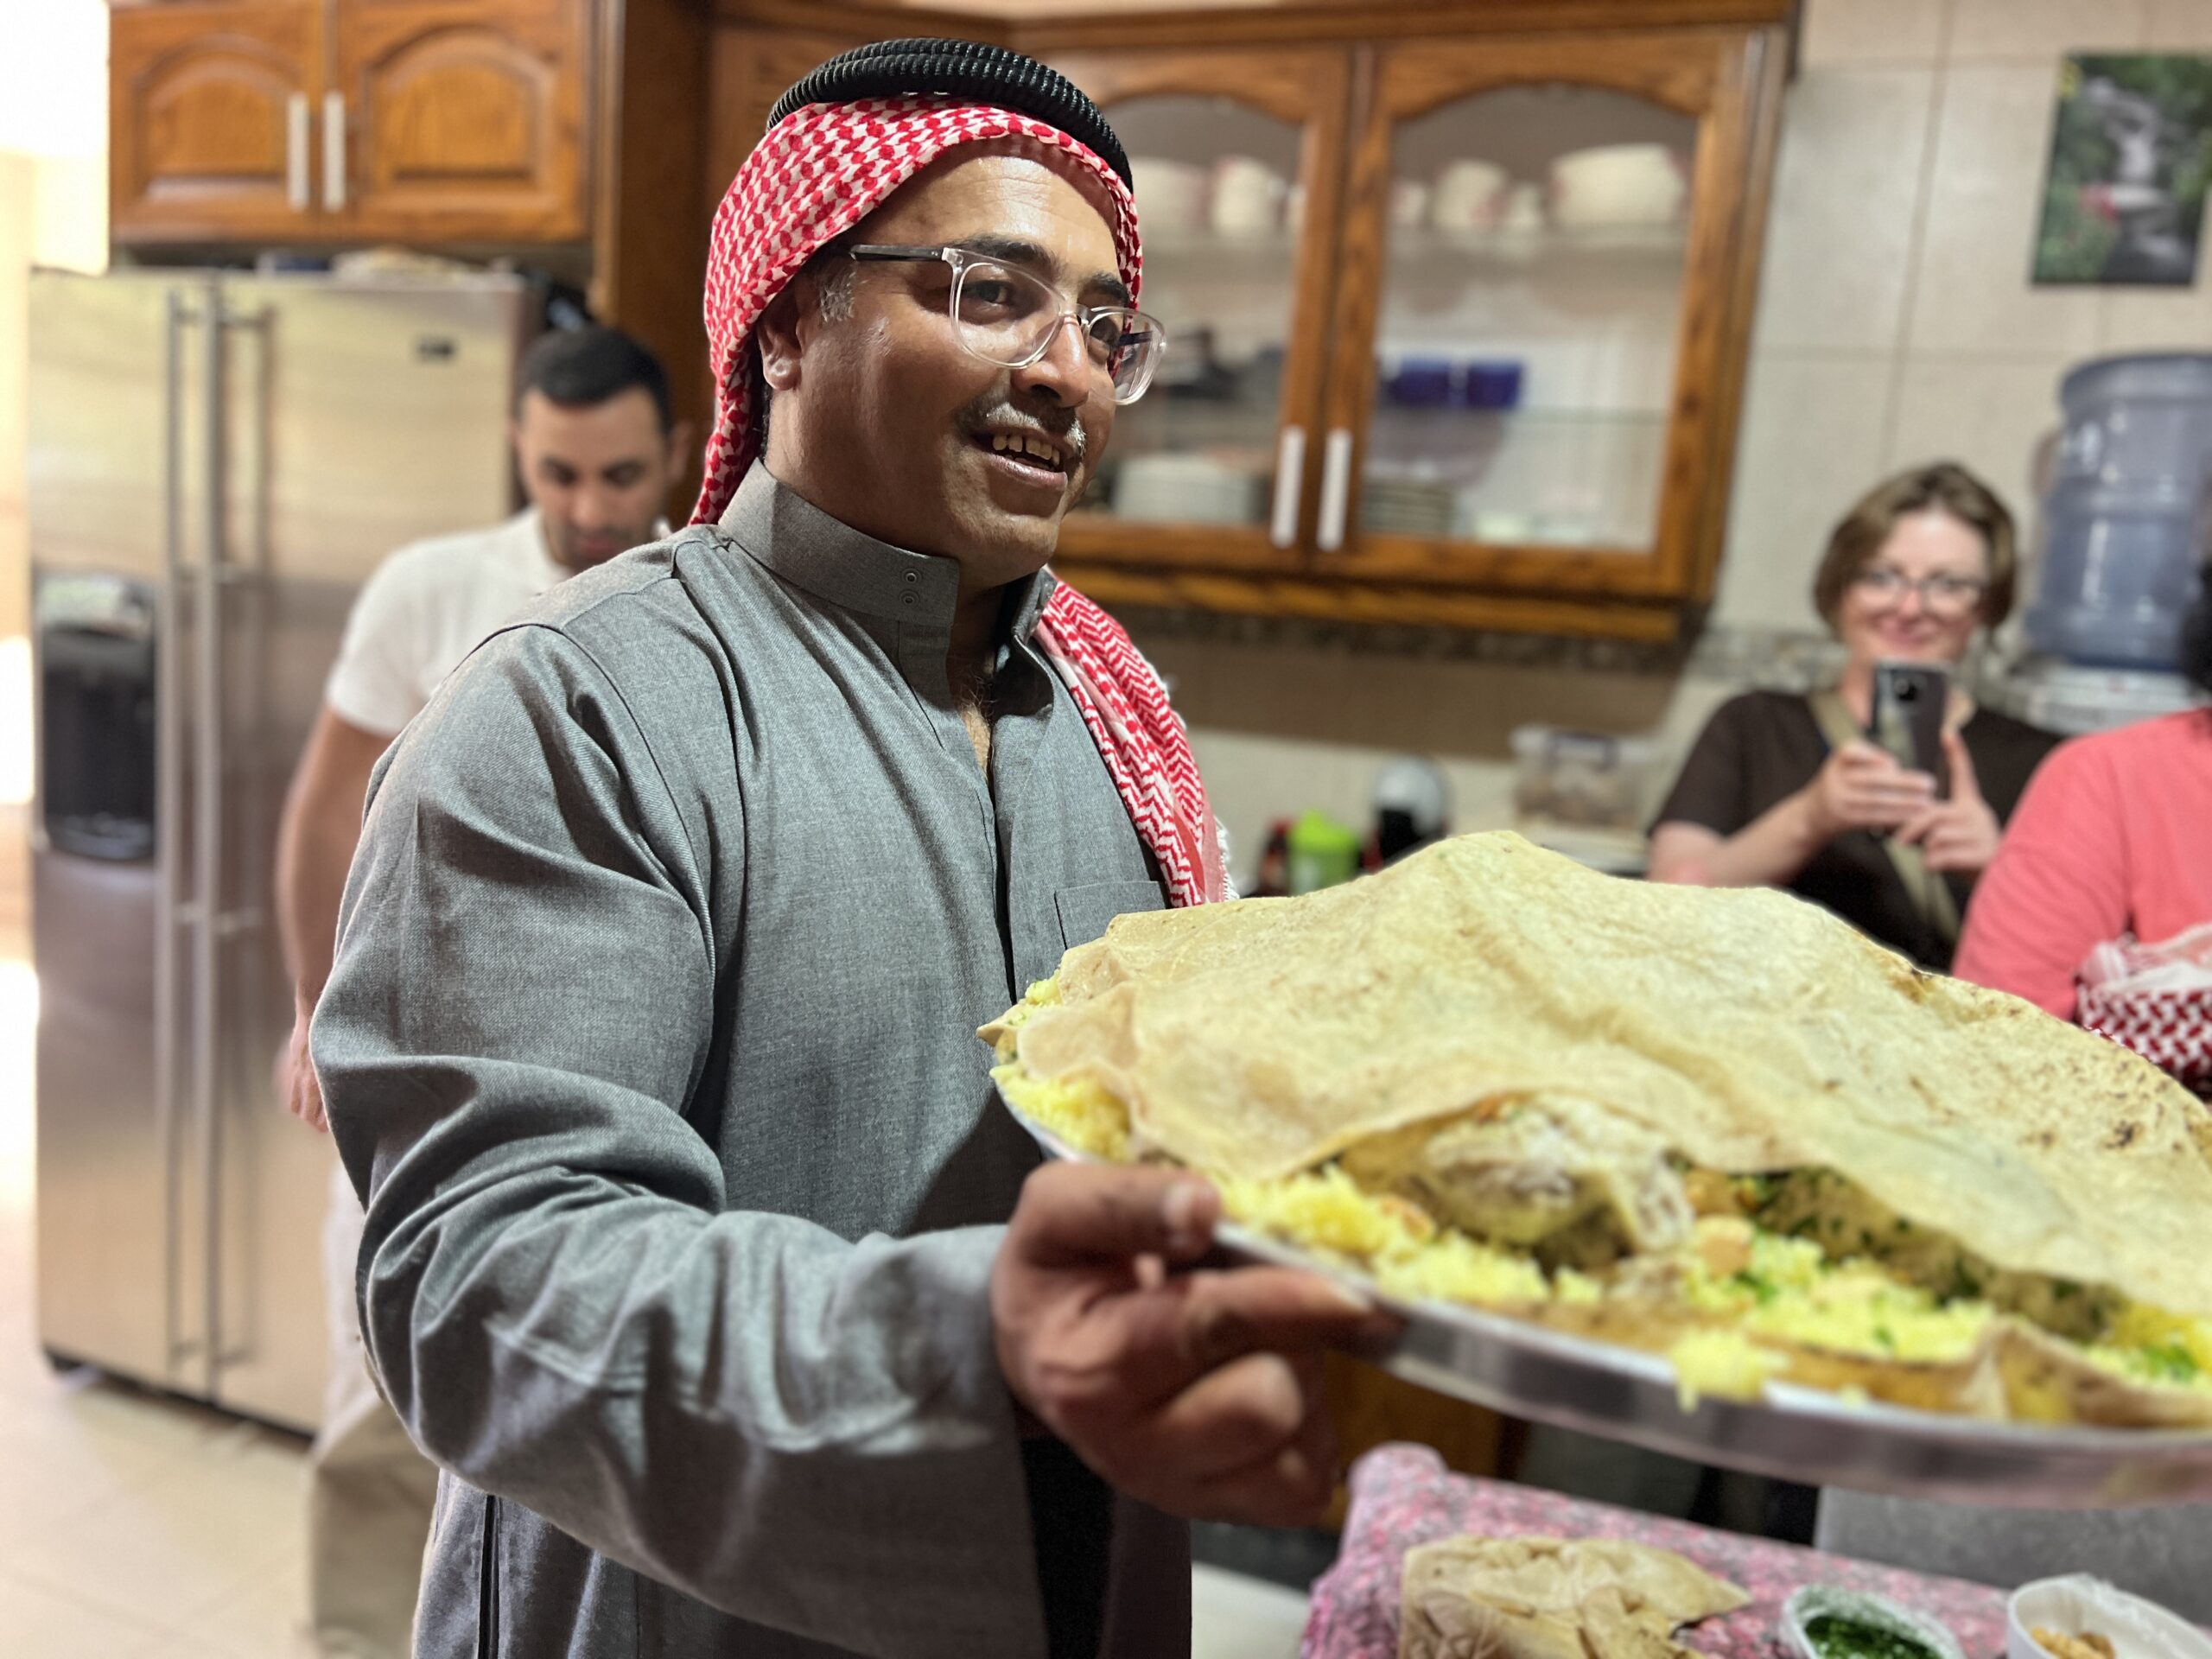
[[[509,276],[31,279],[38,1318],[82,1360],[314,1427],[330,1141],[276,814],[347,606],[511,511]]]

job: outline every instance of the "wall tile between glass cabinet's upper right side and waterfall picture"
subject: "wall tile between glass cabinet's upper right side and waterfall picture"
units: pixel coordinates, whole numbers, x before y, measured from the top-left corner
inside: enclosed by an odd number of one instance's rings
[[[1933,100],[1933,69],[1812,69],[1790,88],[1761,349],[1896,345]]]

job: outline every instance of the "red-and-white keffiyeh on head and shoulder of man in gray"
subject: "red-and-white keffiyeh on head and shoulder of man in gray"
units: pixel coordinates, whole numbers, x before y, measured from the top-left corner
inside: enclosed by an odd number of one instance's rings
[[[945,150],[991,139],[1042,146],[1110,208],[1121,281],[1135,299],[1144,274],[1137,201],[1097,153],[1057,126],[995,104],[918,95],[792,111],[745,157],[714,215],[706,270],[714,434],[692,524],[721,518],[761,447],[752,349],[761,312],[814,254]],[[1066,584],[1044,606],[1037,646],[1082,710],[1137,834],[1159,860],[1170,902],[1228,898],[1219,827],[1190,737],[1152,666],[1113,617]]]

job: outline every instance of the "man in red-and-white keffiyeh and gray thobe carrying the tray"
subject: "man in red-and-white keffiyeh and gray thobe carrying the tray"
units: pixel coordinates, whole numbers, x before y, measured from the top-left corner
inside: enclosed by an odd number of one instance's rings
[[[1011,53],[779,104],[717,219],[695,524],[387,757],[314,1064],[442,1467],[418,1655],[1172,1655],[1170,1515],[1325,1502],[1292,1272],[1048,1168],[973,1029],[1225,896],[1190,748],[1044,562],[1161,345],[1126,159]],[[1011,1219],[1009,1219],[1011,1217]]]

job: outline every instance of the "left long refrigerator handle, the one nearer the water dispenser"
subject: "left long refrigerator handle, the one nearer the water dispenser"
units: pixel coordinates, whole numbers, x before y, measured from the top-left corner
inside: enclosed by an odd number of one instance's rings
[[[177,604],[184,593],[184,330],[192,312],[179,290],[168,290],[161,325],[161,566],[166,582],[155,611],[155,865],[159,900],[153,933],[153,1117],[161,1148],[161,1345],[177,1365],[192,1345],[177,1312],[184,1259],[179,1221],[177,1117],[177,931],[184,927],[184,695],[177,672]]]

